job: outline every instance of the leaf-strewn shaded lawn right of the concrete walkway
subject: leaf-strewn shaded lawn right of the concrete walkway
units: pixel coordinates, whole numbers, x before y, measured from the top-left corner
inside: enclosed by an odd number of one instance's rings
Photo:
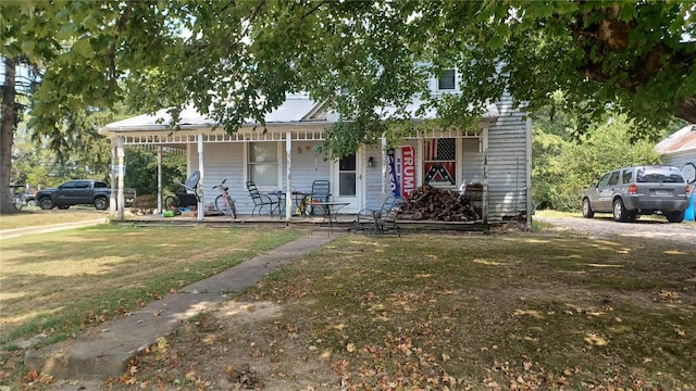
[[[105,388],[693,388],[694,255],[568,234],[348,236],[234,302],[274,315],[197,318]]]

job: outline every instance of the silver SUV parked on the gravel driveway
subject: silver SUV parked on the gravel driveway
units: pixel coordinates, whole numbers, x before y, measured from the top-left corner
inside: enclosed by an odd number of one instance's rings
[[[583,217],[612,213],[617,222],[634,222],[638,215],[661,213],[681,223],[689,203],[684,175],[672,166],[622,167],[602,175],[583,194]]]

